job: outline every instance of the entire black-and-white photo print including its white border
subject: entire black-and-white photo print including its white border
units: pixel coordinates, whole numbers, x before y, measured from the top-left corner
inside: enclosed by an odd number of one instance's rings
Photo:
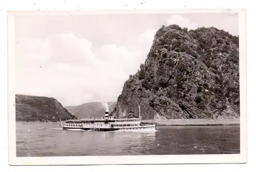
[[[9,11],[14,165],[245,162],[243,12]]]

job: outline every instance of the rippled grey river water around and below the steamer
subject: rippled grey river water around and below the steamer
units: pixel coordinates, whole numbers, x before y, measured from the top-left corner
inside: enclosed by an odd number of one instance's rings
[[[62,130],[16,122],[16,156],[239,154],[239,126],[157,126],[155,132]]]

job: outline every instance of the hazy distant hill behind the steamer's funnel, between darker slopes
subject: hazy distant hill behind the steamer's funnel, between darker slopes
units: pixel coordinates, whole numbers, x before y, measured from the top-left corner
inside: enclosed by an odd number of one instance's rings
[[[116,102],[108,102],[108,105],[109,113],[111,113],[116,105]],[[100,102],[86,103],[78,106],[67,106],[65,108],[71,114],[79,118],[103,117],[105,114],[104,106]]]

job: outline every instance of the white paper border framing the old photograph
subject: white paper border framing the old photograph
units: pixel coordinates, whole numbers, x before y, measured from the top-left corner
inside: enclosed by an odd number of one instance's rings
[[[15,32],[17,15],[97,15],[97,14],[183,14],[226,13],[239,15],[239,70],[240,70],[240,154],[222,155],[141,155],[141,156],[67,156],[16,157],[15,120]],[[9,165],[100,165],[100,164],[202,164],[247,162],[246,109],[246,20],[243,9],[200,10],[74,10],[74,11],[9,11],[8,12],[8,126]]]

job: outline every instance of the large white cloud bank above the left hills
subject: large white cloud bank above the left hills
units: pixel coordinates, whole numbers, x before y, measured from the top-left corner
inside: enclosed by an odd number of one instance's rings
[[[139,36],[138,48],[93,43],[73,34],[19,41],[16,93],[55,97],[64,106],[116,101],[123,83],[145,61],[155,31]]]

